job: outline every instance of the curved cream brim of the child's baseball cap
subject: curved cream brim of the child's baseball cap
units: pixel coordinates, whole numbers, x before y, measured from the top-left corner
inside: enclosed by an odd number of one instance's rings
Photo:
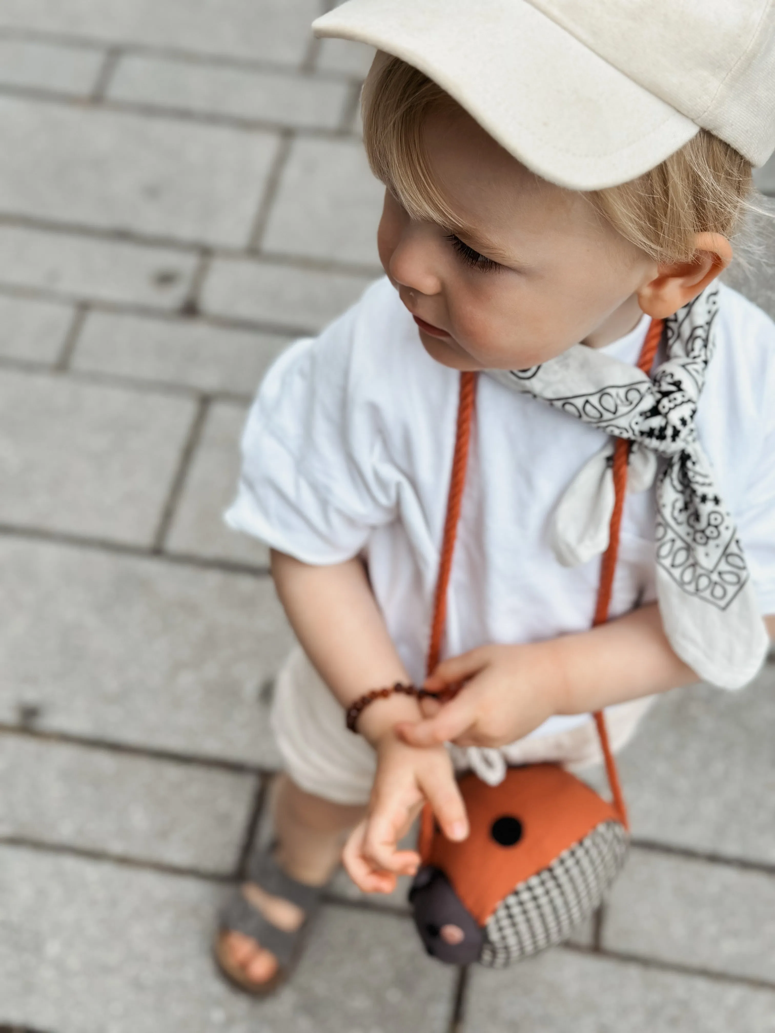
[[[419,68],[524,165],[571,190],[632,180],[699,131],[527,0],[348,0],[312,28]]]

